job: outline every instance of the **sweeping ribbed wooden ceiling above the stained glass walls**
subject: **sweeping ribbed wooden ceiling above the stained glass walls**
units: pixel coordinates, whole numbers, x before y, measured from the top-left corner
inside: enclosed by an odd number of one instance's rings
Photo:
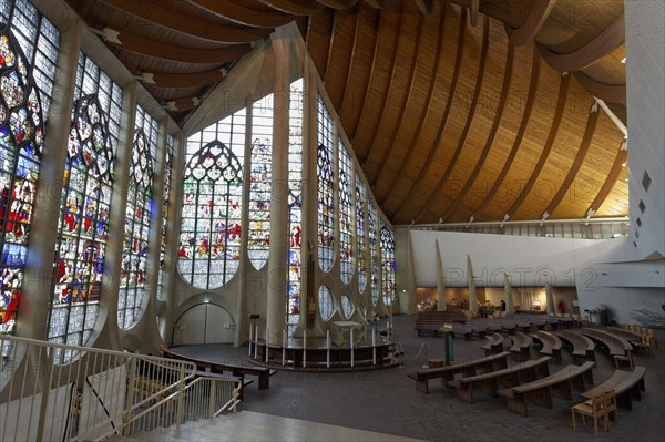
[[[181,125],[296,20],[393,224],[628,214],[623,0],[68,2]]]

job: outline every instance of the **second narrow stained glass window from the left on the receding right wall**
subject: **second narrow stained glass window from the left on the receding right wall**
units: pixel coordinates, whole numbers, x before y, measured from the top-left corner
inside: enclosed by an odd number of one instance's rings
[[[354,276],[354,205],[351,158],[339,138],[339,263],[341,281],[349,284]]]

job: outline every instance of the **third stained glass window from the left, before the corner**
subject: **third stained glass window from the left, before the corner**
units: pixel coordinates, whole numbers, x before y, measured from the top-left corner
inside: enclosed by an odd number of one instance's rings
[[[150,220],[153,218],[154,165],[157,152],[157,122],[136,106],[134,140],[130,161],[124,244],[117,294],[117,323],[132,327],[145,308],[145,270]]]

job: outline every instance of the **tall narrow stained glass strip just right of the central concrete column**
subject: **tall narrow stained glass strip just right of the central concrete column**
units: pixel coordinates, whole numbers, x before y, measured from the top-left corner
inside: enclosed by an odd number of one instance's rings
[[[303,79],[290,85],[288,136],[288,273],[286,328],[293,336],[300,319],[300,234],[303,232]]]

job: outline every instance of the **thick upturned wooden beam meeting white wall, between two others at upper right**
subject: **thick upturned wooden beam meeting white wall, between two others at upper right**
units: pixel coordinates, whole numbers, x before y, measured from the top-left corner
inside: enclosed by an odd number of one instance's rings
[[[582,48],[566,54],[557,54],[539,43],[543,59],[559,72],[573,72],[586,68],[594,61],[607,55],[625,41],[625,21],[622,13],[595,39]]]

